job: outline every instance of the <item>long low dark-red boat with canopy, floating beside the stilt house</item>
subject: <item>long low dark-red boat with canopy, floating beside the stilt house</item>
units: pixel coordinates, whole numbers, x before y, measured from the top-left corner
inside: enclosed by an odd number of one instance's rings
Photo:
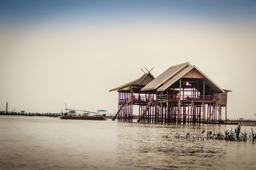
[[[85,111],[85,110],[70,110],[70,109],[66,109],[69,110],[68,112],[66,111],[66,113],[60,117],[62,119],[70,119],[70,120],[108,120],[108,117],[106,117],[106,114],[102,114],[102,115],[89,115],[90,113],[93,114],[98,114],[92,111]],[[84,113],[82,115],[76,115],[76,111],[84,111]]]

